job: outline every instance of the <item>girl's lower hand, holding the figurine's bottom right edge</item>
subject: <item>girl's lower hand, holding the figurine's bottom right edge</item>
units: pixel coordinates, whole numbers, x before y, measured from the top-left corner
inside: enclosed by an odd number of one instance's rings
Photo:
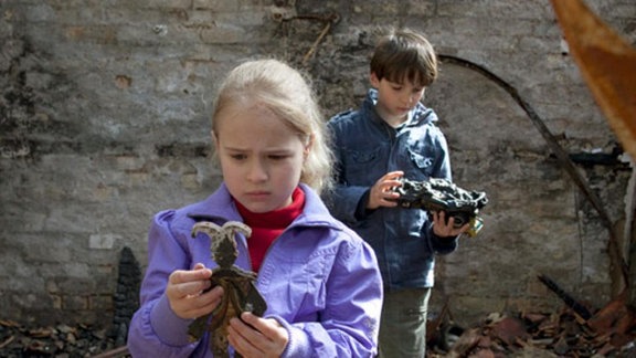
[[[289,337],[287,330],[273,318],[261,318],[245,312],[239,318],[232,318],[227,327],[227,340],[245,358],[280,357]]]

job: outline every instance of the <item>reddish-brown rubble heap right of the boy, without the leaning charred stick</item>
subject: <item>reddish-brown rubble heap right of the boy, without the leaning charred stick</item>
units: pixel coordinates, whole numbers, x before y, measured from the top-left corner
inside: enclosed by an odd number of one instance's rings
[[[636,357],[636,327],[596,331],[568,308],[515,317],[492,314],[476,328],[455,331],[460,335],[451,338],[452,345],[434,338],[427,357]],[[444,339],[448,335],[446,328]]]

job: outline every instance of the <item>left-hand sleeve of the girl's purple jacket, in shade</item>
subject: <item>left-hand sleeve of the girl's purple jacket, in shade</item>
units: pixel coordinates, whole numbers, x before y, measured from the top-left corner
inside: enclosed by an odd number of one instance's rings
[[[132,357],[190,357],[195,351],[204,352],[204,344],[188,340],[191,320],[178,317],[165,295],[172,271],[190,268],[187,250],[170,230],[173,213],[157,214],[150,228],[149,262],[141,283],[140,308],[132,316],[128,330],[127,345]]]

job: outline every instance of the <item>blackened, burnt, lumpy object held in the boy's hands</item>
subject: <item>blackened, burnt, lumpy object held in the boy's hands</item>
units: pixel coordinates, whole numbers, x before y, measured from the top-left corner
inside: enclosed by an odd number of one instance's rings
[[[441,178],[425,181],[402,178],[401,181],[402,186],[394,189],[400,193],[398,198],[400,207],[424,209],[428,212],[444,211],[446,218],[455,219],[453,224],[455,228],[470,223],[470,229],[466,232],[469,236],[477,235],[481,230],[483,220],[477,214],[488,203],[486,192],[467,191]]]

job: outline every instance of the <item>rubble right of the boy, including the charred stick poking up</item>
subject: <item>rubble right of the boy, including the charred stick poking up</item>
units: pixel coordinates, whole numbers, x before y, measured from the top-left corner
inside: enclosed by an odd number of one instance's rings
[[[636,357],[636,308],[627,291],[593,309],[551,278],[539,280],[563,299],[562,312],[491,314],[465,329],[452,324],[446,304],[427,326],[427,357]]]

